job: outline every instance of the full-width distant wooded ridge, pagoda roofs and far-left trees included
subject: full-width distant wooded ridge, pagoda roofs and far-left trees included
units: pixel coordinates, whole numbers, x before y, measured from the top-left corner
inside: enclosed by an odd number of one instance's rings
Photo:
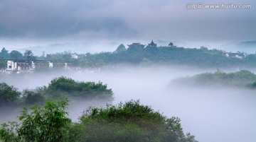
[[[6,56],[3,56],[4,52]],[[14,56],[14,52],[8,53],[8,50],[2,49],[0,59],[32,59],[33,51],[26,51],[24,55]],[[15,51],[16,53],[17,51]],[[30,53],[29,56],[27,55]],[[8,56],[8,54],[10,56]],[[96,54],[74,54],[63,52],[56,54],[46,54],[33,59],[47,60],[53,62],[70,62],[72,66],[81,68],[99,67],[112,64],[137,64],[148,66],[151,64],[178,64],[198,67],[256,67],[256,54],[243,54],[243,57],[235,57],[219,49],[184,48],[169,45],[166,47],[156,47],[156,45],[119,45],[114,52],[100,52]],[[76,57],[74,57],[74,55]]]

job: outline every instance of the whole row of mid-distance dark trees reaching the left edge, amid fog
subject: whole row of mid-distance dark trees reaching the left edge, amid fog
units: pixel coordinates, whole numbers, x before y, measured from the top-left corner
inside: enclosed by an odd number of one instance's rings
[[[0,110],[11,106],[43,105],[46,100],[59,100],[60,97],[111,102],[113,93],[102,82],[78,82],[64,76],[53,78],[48,87],[38,87],[35,90],[18,91],[12,85],[0,83]]]

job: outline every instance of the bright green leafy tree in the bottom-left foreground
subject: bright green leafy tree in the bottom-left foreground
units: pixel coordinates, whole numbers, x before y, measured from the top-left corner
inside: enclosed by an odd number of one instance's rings
[[[18,135],[25,141],[61,141],[64,135],[62,128],[71,122],[66,117],[67,105],[67,100],[58,104],[46,102],[44,107],[31,107],[31,114],[23,109],[18,117],[22,122]]]

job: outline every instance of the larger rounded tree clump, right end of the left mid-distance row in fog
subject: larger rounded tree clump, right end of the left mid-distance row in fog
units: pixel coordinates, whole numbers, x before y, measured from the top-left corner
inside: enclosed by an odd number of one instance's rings
[[[63,96],[78,99],[113,99],[112,90],[107,89],[107,84],[102,82],[77,82],[64,76],[53,78],[48,87],[38,88],[38,91],[52,99]]]

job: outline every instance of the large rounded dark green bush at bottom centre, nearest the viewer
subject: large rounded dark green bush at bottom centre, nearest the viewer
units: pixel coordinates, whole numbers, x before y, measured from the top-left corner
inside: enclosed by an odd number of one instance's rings
[[[80,141],[196,141],[183,134],[180,119],[168,119],[139,100],[91,107],[80,117],[78,126],[76,138]]]

